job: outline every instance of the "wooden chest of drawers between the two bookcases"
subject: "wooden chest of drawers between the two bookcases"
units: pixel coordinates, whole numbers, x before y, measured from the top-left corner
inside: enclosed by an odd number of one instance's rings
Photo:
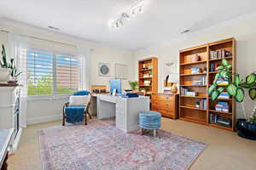
[[[151,111],[158,111],[162,116],[177,118],[178,94],[152,94]]]

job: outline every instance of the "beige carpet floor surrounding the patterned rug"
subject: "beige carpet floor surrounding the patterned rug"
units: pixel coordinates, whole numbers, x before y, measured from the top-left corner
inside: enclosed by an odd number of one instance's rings
[[[41,170],[38,130],[56,125],[61,125],[61,122],[26,127],[20,139],[19,149],[15,155],[9,157],[9,169]],[[256,141],[241,139],[236,133],[218,128],[167,118],[162,119],[162,129],[207,144],[207,149],[190,167],[191,170],[255,170]]]

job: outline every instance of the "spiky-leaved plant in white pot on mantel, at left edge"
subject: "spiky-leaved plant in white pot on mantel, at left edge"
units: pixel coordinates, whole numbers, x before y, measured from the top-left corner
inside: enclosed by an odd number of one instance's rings
[[[2,45],[2,59],[0,60],[0,82],[9,81],[9,64],[6,59],[4,46]]]

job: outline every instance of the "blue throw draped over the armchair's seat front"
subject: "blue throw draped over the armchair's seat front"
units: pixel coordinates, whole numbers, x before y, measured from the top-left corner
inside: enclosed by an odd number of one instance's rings
[[[65,108],[66,122],[79,123],[84,122],[84,105],[69,105]]]

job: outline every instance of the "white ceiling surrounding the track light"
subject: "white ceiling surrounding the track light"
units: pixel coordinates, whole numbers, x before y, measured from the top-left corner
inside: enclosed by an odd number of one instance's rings
[[[135,50],[256,11],[255,0],[145,0],[143,14],[119,29],[108,24],[135,0],[1,0],[0,16],[109,46]]]

